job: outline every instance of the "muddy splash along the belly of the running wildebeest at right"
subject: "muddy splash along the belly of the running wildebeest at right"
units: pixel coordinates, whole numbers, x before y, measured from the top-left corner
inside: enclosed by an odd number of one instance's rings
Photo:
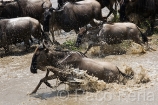
[[[88,54],[92,56],[113,55],[113,54],[141,54],[145,53],[145,48],[132,41],[123,41],[121,44],[102,45],[92,47]]]

